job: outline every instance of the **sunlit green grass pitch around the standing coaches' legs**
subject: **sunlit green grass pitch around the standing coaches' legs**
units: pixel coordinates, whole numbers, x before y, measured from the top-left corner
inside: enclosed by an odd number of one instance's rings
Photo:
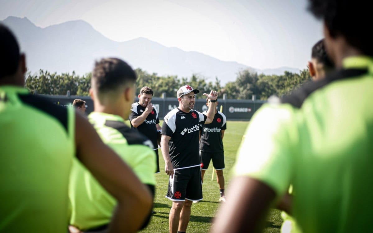
[[[161,122],[162,124],[162,122]],[[248,122],[235,122],[228,121],[228,129],[224,135],[224,150],[225,150],[225,186],[229,185],[231,180],[231,169],[235,162],[236,152],[241,143],[242,135],[244,135],[245,129]],[[156,174],[157,186],[156,186],[156,197],[154,200],[154,211],[150,224],[146,229],[141,232],[168,232],[168,217],[172,202],[165,198],[168,186],[168,179],[166,173],[164,173],[164,161],[162,158],[162,152],[159,151],[160,155],[160,173]],[[214,180],[211,181],[212,174],[212,163],[210,163],[209,169],[206,171],[204,183],[203,183],[203,200],[197,204],[192,205],[191,218],[189,221],[187,232],[190,233],[206,233],[211,229],[211,220],[216,215],[216,211],[219,208],[219,186],[216,182],[216,175]],[[225,188],[226,188],[225,187]],[[250,208],[250,207],[248,207]],[[278,210],[272,210],[268,218],[268,224],[264,232],[280,232],[280,226],[282,219]]]

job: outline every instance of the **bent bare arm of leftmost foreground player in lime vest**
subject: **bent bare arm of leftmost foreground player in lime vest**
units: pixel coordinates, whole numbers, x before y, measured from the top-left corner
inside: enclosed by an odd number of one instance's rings
[[[76,157],[117,199],[109,232],[137,232],[151,209],[152,197],[132,170],[107,147],[83,116],[76,114]]]

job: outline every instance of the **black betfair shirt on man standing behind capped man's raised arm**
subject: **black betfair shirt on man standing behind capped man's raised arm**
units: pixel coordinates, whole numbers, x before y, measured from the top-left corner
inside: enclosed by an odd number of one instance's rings
[[[202,114],[207,114],[204,111]],[[223,113],[217,111],[214,120],[207,125],[200,125],[201,141],[200,151],[203,152],[224,152],[222,130],[227,129],[227,119]]]

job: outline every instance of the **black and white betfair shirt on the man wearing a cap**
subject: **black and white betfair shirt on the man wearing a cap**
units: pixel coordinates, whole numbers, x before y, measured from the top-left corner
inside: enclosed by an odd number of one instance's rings
[[[175,108],[164,117],[162,134],[170,136],[170,158],[173,168],[182,169],[200,166],[198,149],[200,125],[207,116],[195,110],[189,113]]]

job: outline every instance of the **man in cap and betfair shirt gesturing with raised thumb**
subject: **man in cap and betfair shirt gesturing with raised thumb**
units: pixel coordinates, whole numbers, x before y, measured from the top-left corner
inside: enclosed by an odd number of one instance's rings
[[[172,201],[170,233],[186,231],[192,201],[202,199],[199,129],[200,124],[209,124],[214,119],[217,92],[211,91],[209,95],[204,93],[211,100],[207,114],[193,110],[195,94],[199,92],[189,85],[179,88],[179,107],[166,114],[162,125],[161,149],[166,164],[164,171],[170,175],[166,197]]]

